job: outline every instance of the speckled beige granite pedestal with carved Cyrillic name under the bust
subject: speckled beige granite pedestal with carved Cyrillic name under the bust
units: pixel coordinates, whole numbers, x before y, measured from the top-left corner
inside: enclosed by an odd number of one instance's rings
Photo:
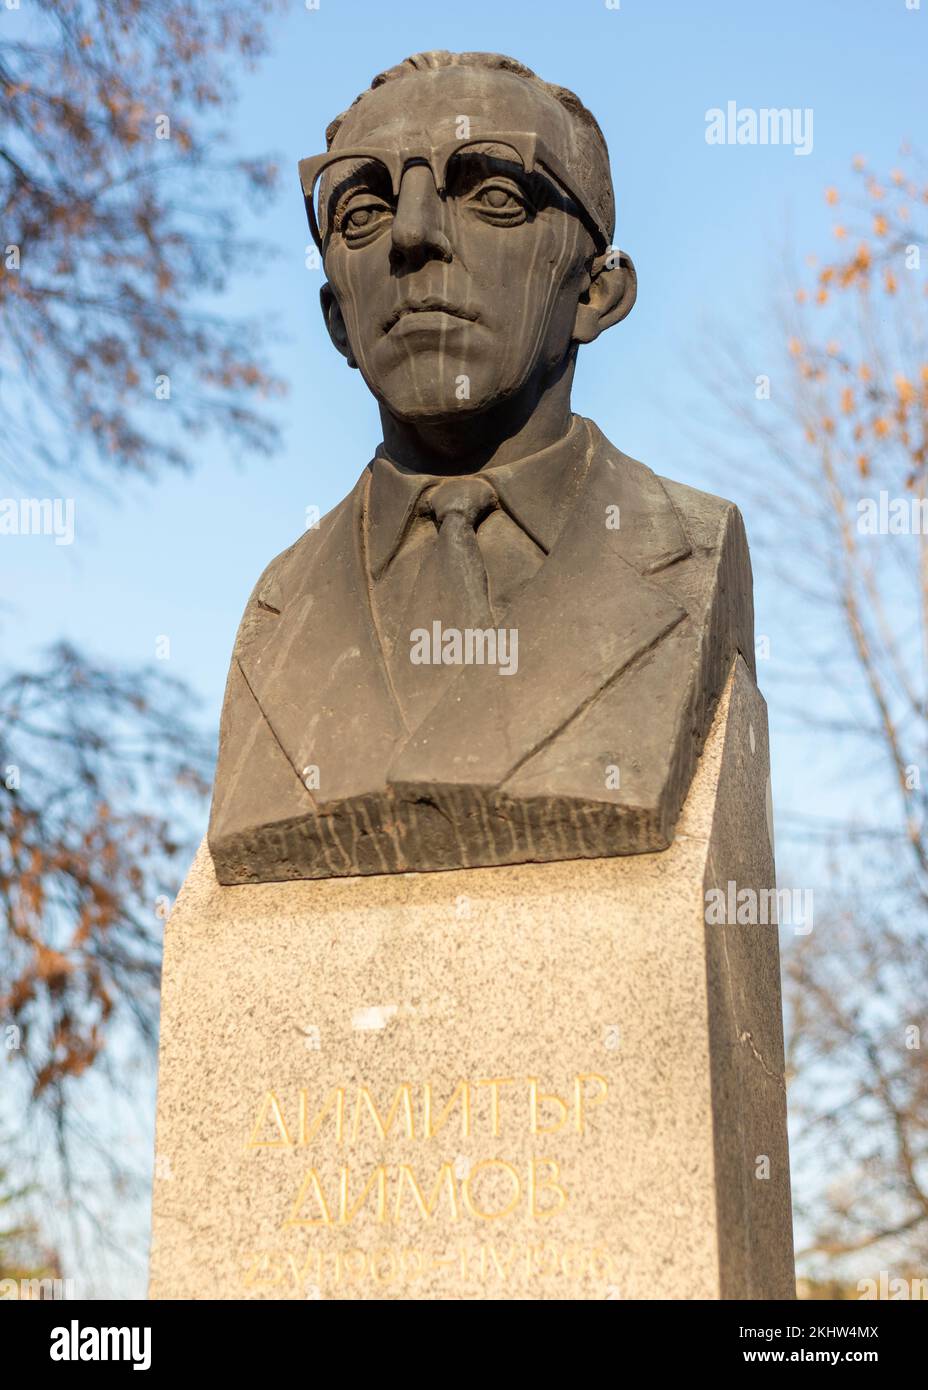
[[[151,1297],[792,1297],[777,929],[714,920],[774,885],[768,785],[739,660],[663,853],[222,888],[203,845]]]

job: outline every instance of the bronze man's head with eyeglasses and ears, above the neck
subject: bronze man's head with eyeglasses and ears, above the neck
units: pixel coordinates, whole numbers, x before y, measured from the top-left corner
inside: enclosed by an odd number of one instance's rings
[[[632,307],[633,268],[608,247],[602,131],[511,58],[407,58],[332,122],[328,145],[353,157],[320,179],[322,307],[395,417],[539,393]]]

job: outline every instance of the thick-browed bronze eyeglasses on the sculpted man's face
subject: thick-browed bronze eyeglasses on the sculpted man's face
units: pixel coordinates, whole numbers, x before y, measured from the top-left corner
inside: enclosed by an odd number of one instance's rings
[[[599,238],[599,250],[606,250],[610,236],[602,217],[593,211],[589,200],[578,190],[575,181],[567,172],[567,168],[561,164],[557,156],[552,153],[543,140],[527,131],[508,131],[504,135],[471,135],[465,139],[446,140],[443,145],[435,145],[431,149],[414,152],[375,149],[367,145],[343,150],[328,150],[325,154],[313,154],[310,158],[300,160],[300,183],[303,185],[306,215],[310,224],[313,240],[320,250],[324,249],[315,211],[315,193],[322,174],[325,174],[325,171],[333,164],[340,164],[345,160],[365,160],[367,163],[383,165],[386,177],[390,181],[390,188],[393,189],[393,197],[396,199],[400,196],[400,182],[407,165],[413,163],[428,164],[432,171],[432,178],[435,179],[435,188],[439,195],[443,195],[450,160],[461,150],[474,145],[502,145],[504,149],[511,150],[515,154],[525,174],[533,174],[536,168],[540,167],[546,174],[553,175],[564,192],[568,193],[574,203],[577,203],[577,207],[581,210],[583,220],[589,224],[590,231],[593,231]]]

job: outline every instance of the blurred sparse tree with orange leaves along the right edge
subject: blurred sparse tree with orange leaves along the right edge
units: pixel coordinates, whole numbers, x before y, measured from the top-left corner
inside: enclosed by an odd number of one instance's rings
[[[784,254],[774,335],[742,325],[713,389],[786,619],[760,677],[831,773],[821,803],[810,785],[781,808],[778,869],[817,884],[814,931],[784,954],[799,1268],[853,1282],[928,1258],[924,165],[856,158],[824,210],[827,254]]]

